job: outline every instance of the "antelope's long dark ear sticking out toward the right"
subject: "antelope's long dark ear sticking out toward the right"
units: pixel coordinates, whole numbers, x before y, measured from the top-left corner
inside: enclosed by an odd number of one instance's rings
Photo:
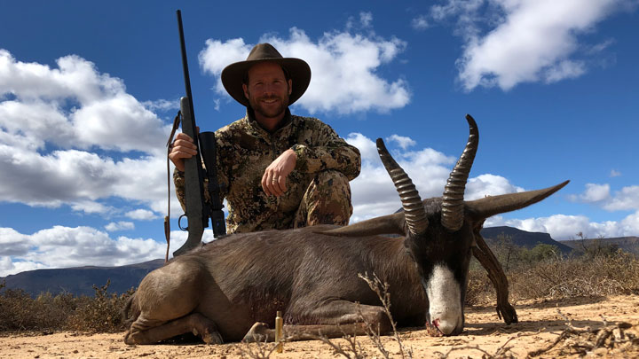
[[[528,207],[542,199],[547,198],[556,191],[561,190],[570,181],[559,183],[556,186],[543,190],[525,191],[519,193],[502,194],[500,196],[490,196],[485,199],[476,199],[464,202],[468,214],[476,221],[483,220],[491,215],[499,215]]]

